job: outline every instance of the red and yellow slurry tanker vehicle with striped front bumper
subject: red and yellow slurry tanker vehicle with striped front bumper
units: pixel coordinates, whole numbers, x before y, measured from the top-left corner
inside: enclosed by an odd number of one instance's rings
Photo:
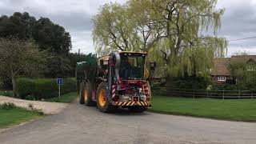
[[[76,77],[80,104],[110,112],[122,106],[143,112],[151,104],[146,53],[112,52],[101,58],[89,55],[86,62],[78,62]],[[150,63],[150,71],[155,62]]]

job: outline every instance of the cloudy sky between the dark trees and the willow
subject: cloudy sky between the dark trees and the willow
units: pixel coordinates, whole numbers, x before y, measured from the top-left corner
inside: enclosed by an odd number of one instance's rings
[[[106,2],[126,0],[0,0],[0,15],[28,12],[35,18],[50,18],[70,32],[73,52],[94,52],[91,18]]]

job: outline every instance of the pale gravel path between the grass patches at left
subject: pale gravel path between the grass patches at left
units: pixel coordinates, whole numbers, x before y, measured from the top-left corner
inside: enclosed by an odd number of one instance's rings
[[[42,110],[44,114],[58,114],[63,109],[65,109],[66,106],[68,106],[68,104],[66,103],[29,101],[24,99],[0,96],[0,104],[4,102],[12,102],[16,106],[24,107],[26,109],[29,109],[29,105],[32,105],[34,109]]]

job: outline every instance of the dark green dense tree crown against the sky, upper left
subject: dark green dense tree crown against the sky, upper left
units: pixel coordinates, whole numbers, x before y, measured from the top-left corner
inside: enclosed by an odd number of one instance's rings
[[[70,34],[49,18],[36,18],[27,12],[15,12],[10,17],[0,17],[0,38],[33,39],[40,50],[54,54],[68,54],[71,50]]]

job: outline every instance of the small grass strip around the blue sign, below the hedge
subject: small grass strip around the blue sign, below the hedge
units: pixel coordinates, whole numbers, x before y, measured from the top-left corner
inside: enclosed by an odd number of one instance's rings
[[[68,94],[63,94],[63,95],[61,95],[60,99],[58,99],[58,97],[48,98],[48,99],[46,99],[46,102],[70,103],[70,102],[73,102],[75,98],[78,98],[78,92],[71,92]]]

